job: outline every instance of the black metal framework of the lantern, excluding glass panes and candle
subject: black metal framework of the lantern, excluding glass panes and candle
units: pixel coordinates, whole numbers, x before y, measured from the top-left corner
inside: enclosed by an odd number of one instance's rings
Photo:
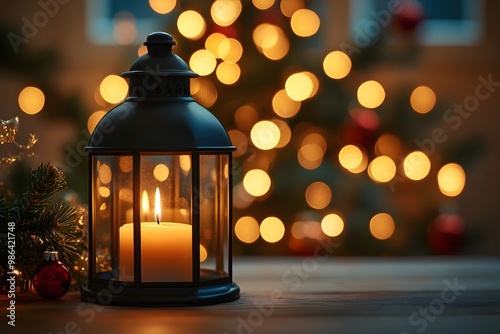
[[[197,74],[172,53],[175,42],[171,35],[155,32],[144,45],[148,53],[139,57],[128,72],[129,96],[111,109],[96,126],[86,150],[89,152],[89,277],[81,288],[81,298],[87,302],[113,305],[205,305],[228,302],[239,297],[240,289],[232,280],[232,152],[235,147],[220,121],[190,95],[190,79]],[[188,155],[191,161],[191,267],[190,281],[144,281],[141,256],[141,158],[144,156],[177,157]],[[218,249],[214,273],[208,274],[200,265],[200,159],[213,156],[217,183],[214,196],[225,205],[215,204],[215,228],[221,230],[216,241]],[[119,239],[118,214],[110,218],[111,264],[109,270],[98,272],[97,242],[100,224],[96,207],[96,166],[105,157],[111,160],[131,159],[133,279],[122,279],[116,263]],[[217,160],[218,159],[218,160]],[[223,166],[220,164],[223,163]],[[173,171],[173,173],[179,171]],[[222,175],[224,173],[224,175]],[[224,178],[224,182],[220,181]],[[115,181],[115,180],[113,180]],[[113,181],[110,182],[113,183]],[[120,183],[116,181],[116,188]],[[214,181],[215,182],[215,181]],[[224,186],[221,186],[221,182]],[[110,186],[111,187],[111,186]],[[111,187],[112,188],[112,187]],[[115,191],[111,189],[111,191]],[[115,191],[117,194],[117,191]],[[117,195],[115,196],[117,197]],[[114,197],[114,198],[115,198]],[[227,206],[227,207],[226,207]],[[113,210],[119,210],[118,205]],[[218,218],[215,218],[216,220]],[[113,221],[114,219],[114,221]],[[224,221],[222,221],[224,220]],[[226,224],[226,225],[224,225]],[[210,240],[209,240],[210,241]],[[224,248],[224,249],[221,249]],[[168,255],[168,254],[167,254]],[[172,254],[170,254],[172,255]],[[222,274],[218,273],[218,270]],[[217,271],[217,272],[216,272]],[[227,272],[226,272],[227,271]],[[211,276],[211,277],[209,277]]]

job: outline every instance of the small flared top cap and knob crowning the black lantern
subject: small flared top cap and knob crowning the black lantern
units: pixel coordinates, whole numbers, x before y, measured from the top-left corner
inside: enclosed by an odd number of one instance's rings
[[[130,77],[134,74],[150,74],[154,72],[158,76],[197,77],[198,74],[192,72],[182,58],[172,53],[175,44],[172,35],[166,32],[149,34],[144,42],[148,53],[139,57],[128,72],[122,73],[122,76]]]

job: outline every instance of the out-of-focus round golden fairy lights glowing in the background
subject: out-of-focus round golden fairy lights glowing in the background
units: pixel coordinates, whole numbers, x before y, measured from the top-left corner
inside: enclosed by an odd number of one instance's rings
[[[279,1],[279,0],[276,0]],[[275,0],[252,0],[255,8],[267,10],[275,4]],[[177,7],[176,0],[149,0],[149,5],[158,14],[171,13]],[[212,80],[224,85],[233,85],[240,79],[241,68],[238,61],[245,52],[242,43],[220,32],[207,36],[207,20],[221,26],[231,26],[242,13],[239,0],[216,0],[210,10],[210,18],[202,16],[194,10],[186,10],[177,16],[178,32],[192,40],[204,38],[205,48],[191,54],[188,63],[190,68],[200,77],[193,79],[191,93],[202,105],[209,108],[218,99],[218,92]],[[313,36],[319,29],[320,18],[311,9],[305,8],[303,0],[281,0],[281,13],[289,18],[291,30],[300,37]],[[290,48],[290,40],[281,27],[272,23],[261,23],[252,28],[252,39],[255,48],[265,57],[278,61],[285,57]],[[122,15],[115,25],[114,36],[120,44],[132,44],[135,38],[133,15]],[[138,48],[138,55],[146,52],[145,47]],[[323,58],[323,71],[332,80],[343,79],[349,75],[352,62],[349,56],[339,50],[332,50]],[[233,144],[237,147],[234,157],[244,155],[252,146],[268,152],[267,165],[273,159],[273,152],[289,145],[293,131],[287,120],[301,110],[302,102],[314,98],[320,81],[315,73],[300,71],[291,73],[284,80],[285,84],[273,95],[270,105],[276,118],[262,120],[255,107],[245,104],[234,112],[236,128],[228,131]],[[96,89],[95,99],[104,108],[123,101],[128,93],[127,82],[118,75],[106,76]],[[365,128],[376,128],[380,122],[374,111],[386,98],[384,87],[376,80],[368,80],[357,88],[357,102],[363,108],[354,108],[350,116]],[[427,86],[416,87],[409,101],[412,109],[418,114],[426,114],[433,110],[436,103],[434,91]],[[19,106],[27,114],[35,114],[43,109],[44,94],[36,87],[26,87],[19,94]],[[92,132],[105,111],[99,110],[88,118],[88,130]],[[321,131],[309,131],[300,142],[297,150],[297,161],[306,170],[318,168],[327,151],[327,140]],[[402,143],[391,133],[383,133],[374,146],[375,157],[370,160],[366,148],[348,144],[338,152],[340,165],[350,173],[366,172],[375,183],[388,183],[396,175],[403,175],[408,180],[420,181],[428,177],[431,161],[423,151],[407,153],[401,160]],[[261,164],[266,165],[266,164]],[[442,194],[458,196],[465,186],[465,172],[457,163],[442,166],[437,175],[437,185]],[[265,167],[248,168],[244,171],[242,182],[234,185],[234,206],[238,209],[248,208],[255,199],[262,198],[272,191],[273,180]],[[311,183],[304,199],[313,210],[327,208],[332,200],[332,190],[321,181]],[[285,224],[280,218],[270,216],[258,221],[252,216],[240,217],[235,223],[236,237],[243,243],[252,244],[259,238],[269,243],[283,239],[287,229],[293,238],[306,237],[323,239],[327,236],[337,237],[342,234],[345,225],[342,212],[332,211],[321,220],[300,220]],[[385,212],[375,214],[369,229],[376,239],[390,238],[396,228],[393,217]]]

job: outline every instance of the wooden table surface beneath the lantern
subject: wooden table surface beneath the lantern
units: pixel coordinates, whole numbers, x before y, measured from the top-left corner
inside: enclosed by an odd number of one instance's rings
[[[241,297],[202,307],[16,296],[0,333],[500,333],[499,258],[235,258]]]

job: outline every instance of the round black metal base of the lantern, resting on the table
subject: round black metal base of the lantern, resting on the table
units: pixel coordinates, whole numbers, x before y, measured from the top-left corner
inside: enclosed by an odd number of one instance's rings
[[[240,296],[240,288],[234,283],[175,288],[129,288],[84,285],[81,298],[89,303],[126,306],[196,306],[226,303]]]

